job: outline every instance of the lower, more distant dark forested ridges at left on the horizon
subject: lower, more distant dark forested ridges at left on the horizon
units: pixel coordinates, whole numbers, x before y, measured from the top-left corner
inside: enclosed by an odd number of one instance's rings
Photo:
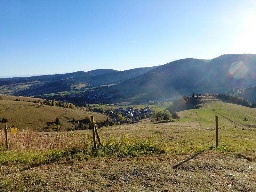
[[[156,66],[157,67],[157,66]],[[126,71],[116,71],[113,69],[96,69],[88,72],[77,71],[66,74],[56,74],[56,75],[43,75],[43,76],[32,76],[32,77],[12,77],[12,78],[2,78],[0,79],[0,86],[10,85],[10,84],[24,84],[28,82],[40,82],[39,84],[33,84],[26,89],[18,90],[15,92],[6,92],[1,90],[0,93],[12,93],[15,95],[41,95],[48,93],[55,93],[61,91],[71,90],[71,86],[79,84],[87,84],[88,86],[99,86],[118,83],[126,81],[127,79],[132,79],[136,76],[140,76],[156,67],[146,67],[146,68],[135,68]]]

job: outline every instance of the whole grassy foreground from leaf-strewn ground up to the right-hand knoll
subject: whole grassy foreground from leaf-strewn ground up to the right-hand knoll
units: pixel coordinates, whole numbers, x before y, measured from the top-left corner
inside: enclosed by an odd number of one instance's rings
[[[24,130],[10,135],[6,151],[2,130],[0,191],[256,191],[255,114],[204,98],[179,121],[99,129],[96,149],[92,130]]]

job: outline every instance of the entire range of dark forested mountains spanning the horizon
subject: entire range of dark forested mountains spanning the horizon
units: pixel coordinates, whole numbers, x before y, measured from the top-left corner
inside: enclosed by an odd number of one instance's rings
[[[33,96],[69,91],[79,84],[99,87],[113,83],[119,84],[107,87],[107,90],[98,89],[97,92],[119,90],[118,94],[123,98],[141,101],[177,98],[181,95],[191,95],[193,92],[228,93],[231,89],[238,90],[256,85],[256,54],[221,55],[212,60],[187,58],[160,66],[126,71],[97,69],[88,72],[3,78],[0,79],[0,85],[29,81],[40,81],[40,84],[27,89],[16,89],[12,94]]]

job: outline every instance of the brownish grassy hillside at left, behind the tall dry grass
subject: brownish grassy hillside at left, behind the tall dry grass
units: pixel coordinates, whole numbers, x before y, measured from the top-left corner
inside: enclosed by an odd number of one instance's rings
[[[8,98],[17,96],[7,96]],[[23,97],[19,97],[23,99]],[[6,99],[6,97],[3,97]],[[20,99],[20,100],[21,100]],[[25,97],[24,97],[25,99]],[[32,98],[31,98],[32,99]],[[106,120],[106,116],[99,113],[85,112],[80,109],[61,108],[56,106],[41,106],[37,103],[16,100],[0,100],[0,120],[8,119],[8,122],[1,121],[0,128],[4,128],[4,124],[8,126],[14,125],[19,130],[31,129],[34,131],[44,131],[45,128],[56,118],[60,119],[61,130],[72,126],[72,119],[76,121],[82,120],[85,116],[94,116],[96,122]]]

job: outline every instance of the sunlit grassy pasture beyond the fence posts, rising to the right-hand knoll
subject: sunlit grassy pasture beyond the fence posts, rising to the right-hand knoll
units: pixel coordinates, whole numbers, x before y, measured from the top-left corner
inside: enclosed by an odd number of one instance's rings
[[[102,140],[120,138],[127,134],[130,138],[166,142],[170,148],[182,153],[183,150],[209,148],[210,144],[215,146],[215,116],[218,115],[220,148],[255,151],[256,128],[249,125],[256,124],[254,114],[255,108],[204,97],[200,108],[178,112],[180,120],[152,123],[151,119],[142,119],[134,124],[100,129],[99,132]],[[248,121],[243,121],[244,117]],[[82,132],[91,133],[90,130]]]

